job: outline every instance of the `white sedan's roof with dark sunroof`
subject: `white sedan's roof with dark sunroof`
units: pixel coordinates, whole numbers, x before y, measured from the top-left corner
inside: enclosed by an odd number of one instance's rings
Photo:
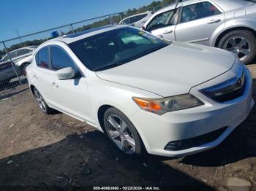
[[[58,37],[56,39],[51,39],[50,41],[51,42],[61,41],[61,42],[65,42],[66,44],[70,44],[70,43],[76,42],[80,39],[85,39],[86,37],[89,37],[89,36],[100,34],[100,33],[106,32],[106,31],[112,31],[116,28],[123,28],[123,27],[126,27],[126,26],[108,25],[108,26],[102,26],[102,27],[98,27],[98,28],[91,28],[89,30],[82,31],[82,32],[79,32],[79,33],[69,34],[67,36],[61,36],[61,37]]]

